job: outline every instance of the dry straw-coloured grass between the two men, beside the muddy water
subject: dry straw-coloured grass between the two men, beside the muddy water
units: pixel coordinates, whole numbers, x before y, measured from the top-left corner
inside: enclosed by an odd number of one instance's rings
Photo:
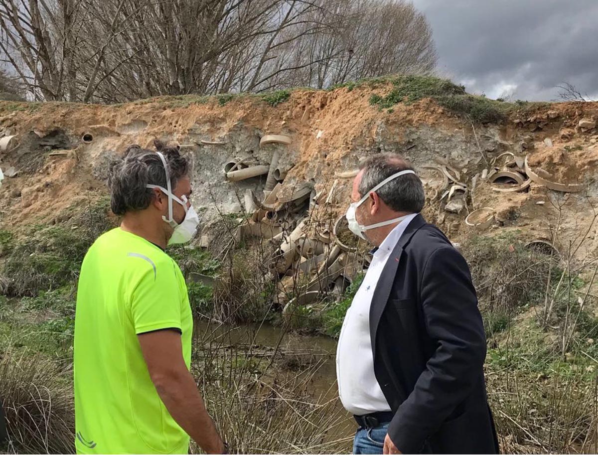
[[[349,450],[352,438],[341,435],[352,422],[338,407],[334,381],[328,391],[313,392],[313,380],[324,362],[319,356],[283,352],[280,344],[261,350],[250,343],[243,350],[229,341],[230,330],[218,327],[200,335],[194,374],[234,453]]]

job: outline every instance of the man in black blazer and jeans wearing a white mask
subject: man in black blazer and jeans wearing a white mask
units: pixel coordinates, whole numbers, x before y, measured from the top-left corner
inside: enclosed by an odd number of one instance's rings
[[[424,201],[398,155],[369,158],[353,182],[349,227],[377,247],[338,341],[354,453],[498,453],[471,274]]]

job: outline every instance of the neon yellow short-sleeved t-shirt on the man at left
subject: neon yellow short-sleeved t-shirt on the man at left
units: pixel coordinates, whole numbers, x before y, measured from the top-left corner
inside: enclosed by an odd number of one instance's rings
[[[137,335],[181,331],[187,368],[193,317],[181,270],[142,237],[116,228],[94,242],[75,313],[78,453],[188,453],[189,436],[149,378]]]

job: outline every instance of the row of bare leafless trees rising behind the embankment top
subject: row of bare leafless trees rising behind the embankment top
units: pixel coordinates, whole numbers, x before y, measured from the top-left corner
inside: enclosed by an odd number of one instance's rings
[[[430,72],[405,0],[0,0],[0,51],[30,96],[123,102]]]

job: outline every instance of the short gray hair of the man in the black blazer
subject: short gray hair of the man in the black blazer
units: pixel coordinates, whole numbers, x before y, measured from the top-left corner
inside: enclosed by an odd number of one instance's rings
[[[361,164],[363,170],[359,182],[359,195],[364,197],[377,184],[402,170],[414,170],[401,156],[384,153],[368,158]],[[376,194],[395,212],[419,213],[426,197],[422,181],[415,174],[405,174],[391,180],[376,190]]]

